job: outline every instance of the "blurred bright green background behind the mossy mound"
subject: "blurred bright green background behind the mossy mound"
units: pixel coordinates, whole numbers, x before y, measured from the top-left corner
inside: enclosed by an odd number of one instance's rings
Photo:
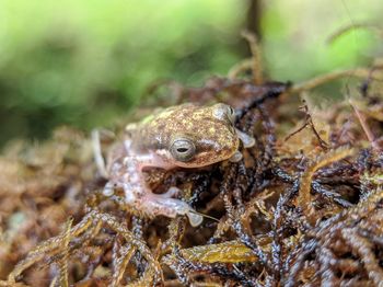
[[[67,124],[108,126],[158,79],[200,85],[262,38],[265,70],[294,82],[369,65],[382,38],[338,28],[380,24],[381,0],[0,0],[0,147]]]

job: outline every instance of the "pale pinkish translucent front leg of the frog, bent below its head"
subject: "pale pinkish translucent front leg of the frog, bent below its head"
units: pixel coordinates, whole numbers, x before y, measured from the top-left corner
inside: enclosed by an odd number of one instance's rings
[[[202,217],[196,214],[188,204],[172,198],[179,192],[178,188],[171,187],[165,194],[154,194],[147,186],[142,174],[143,168],[169,168],[165,163],[156,161],[155,157],[151,154],[127,156],[123,164],[117,165],[116,163],[113,165],[111,181],[107,185],[116,185],[123,188],[125,192],[125,200],[129,206],[149,216],[163,215],[174,218],[177,215],[186,215],[192,226],[201,223]]]

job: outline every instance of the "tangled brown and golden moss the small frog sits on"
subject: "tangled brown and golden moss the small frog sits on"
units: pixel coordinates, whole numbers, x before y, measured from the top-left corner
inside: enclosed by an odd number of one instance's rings
[[[10,145],[0,158],[0,286],[382,283],[382,90],[321,111],[300,107],[294,93],[326,77],[294,85],[239,73],[198,89],[166,83],[179,103],[231,104],[236,127],[255,138],[239,162],[148,174],[158,192],[185,191],[207,216],[197,228],[104,197],[91,140],[78,130]]]

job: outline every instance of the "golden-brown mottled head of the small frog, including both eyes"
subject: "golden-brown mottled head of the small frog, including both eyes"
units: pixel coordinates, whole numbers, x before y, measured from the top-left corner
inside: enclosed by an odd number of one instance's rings
[[[183,168],[199,168],[231,158],[239,148],[234,110],[225,104],[208,107],[182,105],[172,111],[166,129],[166,158]]]

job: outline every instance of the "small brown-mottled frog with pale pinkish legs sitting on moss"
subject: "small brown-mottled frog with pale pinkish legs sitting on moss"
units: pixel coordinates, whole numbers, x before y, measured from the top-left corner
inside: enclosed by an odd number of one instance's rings
[[[107,157],[103,193],[111,196],[114,191],[123,190],[125,204],[135,210],[149,217],[187,216],[190,225],[197,227],[204,215],[175,198],[181,190],[172,186],[163,194],[155,194],[143,173],[150,168],[170,171],[240,161],[240,141],[245,148],[255,142],[235,128],[235,111],[230,105],[186,103],[161,110],[126,126],[121,142]]]

